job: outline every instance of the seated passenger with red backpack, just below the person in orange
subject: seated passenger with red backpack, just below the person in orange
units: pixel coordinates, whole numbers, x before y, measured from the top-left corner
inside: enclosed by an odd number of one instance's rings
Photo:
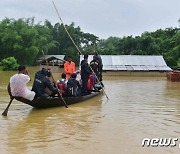
[[[66,80],[66,74],[61,74],[61,80],[57,81],[57,87],[59,89],[59,92],[62,94],[62,96],[66,95],[66,86],[67,86],[67,80]]]

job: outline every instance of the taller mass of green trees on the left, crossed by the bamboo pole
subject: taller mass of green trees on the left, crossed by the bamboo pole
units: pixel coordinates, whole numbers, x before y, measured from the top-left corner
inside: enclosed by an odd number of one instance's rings
[[[98,37],[83,33],[74,23],[65,26],[82,52],[98,41]],[[20,64],[33,65],[42,56],[42,50],[45,54],[71,55],[73,60],[79,61],[77,49],[62,24],[53,26],[48,20],[44,25],[35,24],[34,18],[6,18],[0,22],[0,59],[14,56]]]

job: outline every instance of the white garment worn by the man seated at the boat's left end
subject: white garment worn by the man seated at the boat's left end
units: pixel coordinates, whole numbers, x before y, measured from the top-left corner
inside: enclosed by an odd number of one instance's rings
[[[35,92],[27,88],[26,84],[30,81],[30,77],[25,74],[15,74],[10,78],[10,88],[12,96],[20,96],[28,100],[33,100]]]

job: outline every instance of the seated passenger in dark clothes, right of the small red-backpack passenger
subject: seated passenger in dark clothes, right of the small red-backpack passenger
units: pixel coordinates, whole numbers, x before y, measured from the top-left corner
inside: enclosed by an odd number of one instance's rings
[[[71,78],[67,82],[67,96],[79,96],[81,94],[81,86],[76,80],[76,73],[71,74]]]

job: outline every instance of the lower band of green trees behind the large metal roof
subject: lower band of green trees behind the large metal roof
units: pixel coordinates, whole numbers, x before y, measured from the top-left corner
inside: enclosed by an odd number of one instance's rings
[[[97,50],[101,54],[163,55],[169,66],[179,66],[180,29],[159,29],[136,37],[109,37],[100,40],[98,46]]]

